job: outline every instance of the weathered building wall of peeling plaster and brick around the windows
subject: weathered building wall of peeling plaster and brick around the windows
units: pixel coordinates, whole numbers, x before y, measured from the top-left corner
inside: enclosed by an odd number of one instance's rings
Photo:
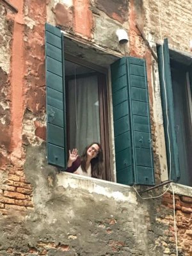
[[[174,51],[191,58],[190,2],[0,0],[0,255],[192,255],[191,188],[163,186],[142,194],[156,198],[143,200],[130,186],[63,173],[47,164],[44,51],[49,22],[86,45],[86,51],[102,49],[110,60],[145,58],[159,184],[168,179],[168,170],[152,51],[156,54],[156,44],[168,37]],[[118,28],[127,31],[127,45],[118,44]],[[108,89],[110,95],[110,83]],[[111,98],[108,103],[113,124]],[[113,166],[113,125],[109,133]]]

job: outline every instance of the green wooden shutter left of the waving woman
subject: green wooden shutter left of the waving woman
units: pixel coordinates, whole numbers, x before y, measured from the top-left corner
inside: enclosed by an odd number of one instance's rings
[[[47,89],[47,161],[66,167],[66,113],[63,35],[45,24],[45,65]]]

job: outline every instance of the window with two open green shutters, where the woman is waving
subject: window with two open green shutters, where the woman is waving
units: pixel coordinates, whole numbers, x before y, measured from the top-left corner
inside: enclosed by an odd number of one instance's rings
[[[78,145],[81,150],[89,141],[100,140],[105,152],[104,179],[110,180],[106,74],[76,58],[66,59],[63,40],[60,29],[46,24],[48,163],[65,169],[68,148]],[[111,65],[111,87],[116,180],[154,185],[145,60],[124,57],[115,61]],[[86,124],[81,124],[82,120]],[[93,126],[95,137],[88,131]]]

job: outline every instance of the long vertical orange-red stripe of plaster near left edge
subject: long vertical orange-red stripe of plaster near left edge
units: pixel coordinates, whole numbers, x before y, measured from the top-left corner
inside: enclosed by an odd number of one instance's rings
[[[21,131],[22,131],[22,115],[24,109],[24,93],[23,93],[23,74],[24,74],[24,17],[23,17],[23,1],[12,1],[19,12],[15,16],[13,28],[12,43],[12,142],[11,147],[13,155],[21,157]]]

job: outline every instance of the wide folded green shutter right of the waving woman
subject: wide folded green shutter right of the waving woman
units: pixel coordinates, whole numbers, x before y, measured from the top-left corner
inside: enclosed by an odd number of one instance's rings
[[[116,179],[154,185],[145,60],[124,57],[111,65]]]

